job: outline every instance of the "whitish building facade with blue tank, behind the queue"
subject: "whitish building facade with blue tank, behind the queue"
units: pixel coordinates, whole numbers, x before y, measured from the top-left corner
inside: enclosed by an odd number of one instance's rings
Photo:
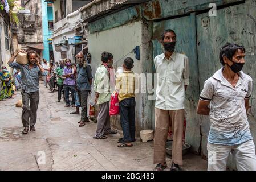
[[[69,58],[75,62],[75,55],[86,49],[87,40],[83,34],[80,8],[90,1],[54,1],[54,31],[52,44],[55,61]]]

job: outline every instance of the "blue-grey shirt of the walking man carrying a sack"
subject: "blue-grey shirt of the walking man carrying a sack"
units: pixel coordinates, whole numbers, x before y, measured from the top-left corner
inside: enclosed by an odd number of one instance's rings
[[[47,76],[46,72],[41,72],[38,66],[29,69],[29,64],[8,63],[9,67],[21,70],[21,89],[26,93],[39,91],[39,77]]]

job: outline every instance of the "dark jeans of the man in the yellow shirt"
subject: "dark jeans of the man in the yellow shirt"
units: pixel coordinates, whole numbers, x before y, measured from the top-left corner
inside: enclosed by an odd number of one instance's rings
[[[135,106],[135,97],[126,98],[119,102],[124,142],[132,142],[135,140]]]

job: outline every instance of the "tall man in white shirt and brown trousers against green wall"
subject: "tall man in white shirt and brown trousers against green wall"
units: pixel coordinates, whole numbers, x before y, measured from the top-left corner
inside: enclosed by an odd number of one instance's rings
[[[182,165],[182,134],[185,109],[185,90],[189,85],[188,57],[174,51],[176,34],[173,30],[165,30],[161,35],[161,43],[165,52],[154,59],[157,73],[156,104],[155,104],[155,140],[154,164],[155,171],[164,170],[165,144],[169,126],[173,130],[172,167],[180,170]]]

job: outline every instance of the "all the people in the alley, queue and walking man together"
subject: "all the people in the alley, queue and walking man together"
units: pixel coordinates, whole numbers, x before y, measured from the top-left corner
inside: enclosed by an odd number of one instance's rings
[[[173,146],[171,171],[180,171],[182,159],[182,138],[185,111],[185,92],[189,85],[189,58],[175,51],[176,32],[165,30],[161,34],[161,44],[164,53],[154,59],[157,76],[155,103],[155,136],[153,163],[155,171],[163,171],[166,167],[165,144],[169,127],[172,126]],[[23,52],[23,51],[19,51]],[[209,115],[210,132],[208,136],[208,170],[225,170],[230,152],[237,159],[238,170],[256,170],[256,155],[253,137],[250,133],[247,110],[252,93],[252,78],[242,72],[245,64],[245,48],[237,44],[226,43],[220,49],[220,63],[222,68],[205,81],[200,94],[197,113]],[[123,61],[122,70],[115,78],[113,72],[113,55],[110,52],[101,54],[101,64],[92,74],[91,55],[84,59],[83,53],[76,55],[78,64],[70,59],[60,60],[57,68],[54,63],[47,67],[46,60],[40,64],[39,57],[34,51],[27,52],[29,64],[14,63],[17,53],[9,60],[9,66],[21,71],[23,99],[22,123],[25,127],[23,134],[35,131],[36,111],[39,102],[39,77],[43,76],[44,86],[47,87],[49,76],[50,92],[54,92],[55,83],[58,86],[58,100],[60,102],[62,90],[64,92],[64,107],[76,107],[70,114],[79,114],[79,127],[89,122],[88,96],[94,92],[94,104],[99,106],[97,114],[97,128],[94,139],[106,139],[107,135],[116,134],[111,129],[109,116],[109,101],[111,88],[115,88],[118,95],[120,123],[123,137],[119,139],[117,147],[132,147],[135,142],[135,82],[132,72],[134,61],[127,57]],[[90,58],[90,60],[88,59]],[[6,67],[0,72],[5,85],[5,92],[11,97],[9,89],[10,73]],[[30,75],[30,76],[29,76]],[[94,81],[92,81],[94,79]],[[71,94],[71,101],[70,101]],[[30,103],[30,105],[29,105]],[[91,103],[90,103],[91,104]],[[211,161],[214,156],[214,162]],[[211,158],[211,159],[210,159]]]

